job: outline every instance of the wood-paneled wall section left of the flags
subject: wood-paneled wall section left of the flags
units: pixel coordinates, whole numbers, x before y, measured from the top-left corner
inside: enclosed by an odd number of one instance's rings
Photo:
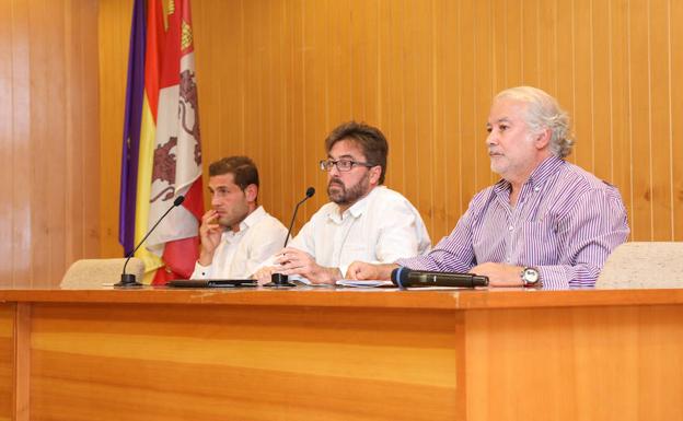
[[[0,285],[49,285],[100,254],[97,1],[1,4]]]

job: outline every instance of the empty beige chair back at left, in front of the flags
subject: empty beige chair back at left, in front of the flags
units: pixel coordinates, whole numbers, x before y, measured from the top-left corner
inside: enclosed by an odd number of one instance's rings
[[[81,259],[74,261],[61,279],[60,286],[73,290],[100,289],[103,284],[120,281],[126,259]],[[126,273],[134,273],[142,281],[144,264],[134,257],[126,266]]]

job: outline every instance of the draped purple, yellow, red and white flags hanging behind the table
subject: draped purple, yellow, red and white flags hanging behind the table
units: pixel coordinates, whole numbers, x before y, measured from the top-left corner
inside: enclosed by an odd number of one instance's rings
[[[204,213],[201,143],[189,0],[135,0],[128,62],[119,242],[134,245],[185,196],[136,253],[152,284],[188,278]]]

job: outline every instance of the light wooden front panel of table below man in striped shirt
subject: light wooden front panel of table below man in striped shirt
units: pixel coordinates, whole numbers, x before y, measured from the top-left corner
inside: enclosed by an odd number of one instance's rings
[[[680,305],[468,312],[467,420],[683,420]]]

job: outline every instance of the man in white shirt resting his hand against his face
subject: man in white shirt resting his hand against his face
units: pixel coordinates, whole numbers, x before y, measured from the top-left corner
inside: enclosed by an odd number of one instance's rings
[[[246,279],[282,248],[287,229],[258,206],[258,169],[246,156],[209,165],[211,207],[201,218],[201,250],[192,279]]]

